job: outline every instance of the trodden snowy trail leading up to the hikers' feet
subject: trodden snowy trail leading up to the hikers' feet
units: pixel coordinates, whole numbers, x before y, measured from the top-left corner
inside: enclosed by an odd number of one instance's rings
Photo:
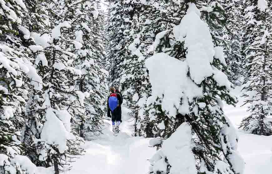
[[[149,161],[155,148],[149,147],[149,140],[131,137],[132,128],[127,117],[128,109],[123,107],[123,122],[117,137],[113,136],[111,121],[105,120],[103,135],[97,140],[86,142],[85,155],[73,162],[68,174],[139,174],[148,173]]]

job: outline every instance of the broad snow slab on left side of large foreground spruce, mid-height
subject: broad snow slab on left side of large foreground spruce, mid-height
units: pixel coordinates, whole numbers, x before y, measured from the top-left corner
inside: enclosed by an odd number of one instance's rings
[[[169,111],[169,115],[175,116],[176,108],[179,107],[180,112],[189,112],[184,105],[180,106],[181,97],[192,101],[195,96],[202,96],[201,88],[187,77],[187,62],[179,61],[165,53],[156,53],[146,60],[145,65],[149,70],[152,96],[163,98],[162,109]]]

